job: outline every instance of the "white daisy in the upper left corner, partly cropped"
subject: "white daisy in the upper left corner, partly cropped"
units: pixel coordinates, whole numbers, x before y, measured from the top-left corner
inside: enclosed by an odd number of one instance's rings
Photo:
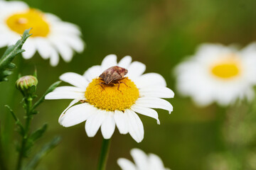
[[[0,1],[0,47],[14,44],[28,28],[32,28],[33,35],[23,45],[24,59],[30,59],[38,51],[43,59],[50,59],[50,64],[56,66],[59,55],[70,62],[73,50],[84,50],[80,30],[73,23],[30,8],[23,1]]]

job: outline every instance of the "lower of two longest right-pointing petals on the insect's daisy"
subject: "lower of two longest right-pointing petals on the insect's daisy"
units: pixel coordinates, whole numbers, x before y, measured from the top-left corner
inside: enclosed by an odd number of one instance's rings
[[[161,98],[153,98],[153,97],[142,97],[138,98],[136,101],[136,105],[143,106],[146,108],[161,108],[166,111],[173,111],[173,106],[168,101],[161,99]]]

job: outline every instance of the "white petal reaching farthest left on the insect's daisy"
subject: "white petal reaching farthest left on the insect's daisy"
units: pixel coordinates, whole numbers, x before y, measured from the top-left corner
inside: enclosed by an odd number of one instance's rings
[[[75,98],[84,98],[84,93],[75,92],[75,91],[52,91],[46,95],[46,99],[75,99]]]

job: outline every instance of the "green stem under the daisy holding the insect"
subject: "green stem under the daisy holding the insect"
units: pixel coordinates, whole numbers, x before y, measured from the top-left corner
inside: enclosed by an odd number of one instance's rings
[[[108,156],[109,151],[110,151],[110,140],[103,139],[97,170],[105,170],[106,169],[107,156]]]

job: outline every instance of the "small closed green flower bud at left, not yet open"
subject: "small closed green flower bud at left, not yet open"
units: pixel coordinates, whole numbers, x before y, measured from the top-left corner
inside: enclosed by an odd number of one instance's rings
[[[31,96],[36,91],[38,80],[33,76],[24,76],[16,81],[16,88],[21,91],[23,96]]]

